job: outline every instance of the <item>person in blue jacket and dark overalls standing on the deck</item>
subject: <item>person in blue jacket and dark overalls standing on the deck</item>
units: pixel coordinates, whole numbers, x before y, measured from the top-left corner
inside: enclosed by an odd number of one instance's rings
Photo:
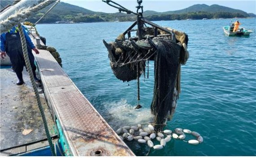
[[[35,57],[32,54],[32,49],[35,51],[36,54],[39,54],[39,51],[35,48],[35,45],[32,43],[29,35],[25,31],[24,26],[22,26],[25,38],[26,38],[26,46],[27,46],[27,52],[29,61],[31,64],[31,68],[33,71],[33,75],[36,82],[40,82],[38,78],[36,78],[35,75]],[[0,56],[4,59],[6,57],[6,54],[10,57],[10,60],[12,62],[13,70],[15,71],[18,82],[17,85],[24,84],[23,78],[22,78],[22,71],[23,67],[26,65],[25,59],[23,57],[23,51],[22,51],[22,43],[21,43],[21,37],[18,31],[18,26],[14,26],[11,30],[8,32],[5,32],[1,34],[1,40],[0,40]]]

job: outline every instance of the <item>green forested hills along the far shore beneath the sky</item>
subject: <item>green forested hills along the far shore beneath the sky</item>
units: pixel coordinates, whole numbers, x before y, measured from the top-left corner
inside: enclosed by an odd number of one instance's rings
[[[1,9],[3,6],[12,4],[13,0],[1,0]],[[30,22],[36,22],[52,5],[37,12],[33,17],[27,19]],[[181,19],[202,19],[202,18],[247,18],[255,17],[253,13],[246,13],[242,10],[232,9],[221,5],[195,4],[185,9],[155,12],[144,11],[143,16],[149,20],[181,20]],[[79,6],[60,2],[53,10],[47,14],[40,23],[55,23],[57,21],[68,22],[108,22],[108,21],[134,21],[136,16],[126,13],[102,13],[84,9]]]

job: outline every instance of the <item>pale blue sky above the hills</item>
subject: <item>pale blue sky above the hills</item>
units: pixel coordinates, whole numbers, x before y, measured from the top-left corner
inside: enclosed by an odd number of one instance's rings
[[[105,12],[105,13],[116,13],[118,9],[115,9],[106,3],[102,2],[102,0],[61,0],[62,2],[77,5],[79,7],[83,7],[85,9],[89,9],[95,12]],[[137,0],[113,0],[118,4],[121,4],[125,8],[136,12],[137,9]],[[157,12],[165,12],[165,11],[174,11],[185,9],[194,4],[218,4],[225,7],[240,9],[247,13],[256,14],[256,0],[196,0],[196,1],[188,1],[188,0],[143,0],[142,6],[143,10],[154,10]]]

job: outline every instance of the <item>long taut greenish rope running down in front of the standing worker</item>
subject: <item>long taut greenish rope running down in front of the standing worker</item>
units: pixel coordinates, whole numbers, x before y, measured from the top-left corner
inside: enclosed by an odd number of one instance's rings
[[[28,74],[29,74],[29,77],[30,77],[30,80],[31,80],[31,83],[32,83],[32,86],[33,86],[33,89],[34,89],[34,92],[35,92],[35,97],[36,97],[36,101],[37,101],[37,104],[38,104],[38,107],[39,107],[39,110],[40,110],[40,114],[43,118],[44,130],[45,130],[45,133],[46,133],[46,136],[47,136],[47,140],[49,142],[52,155],[56,156],[56,154],[54,152],[54,146],[53,146],[52,138],[50,136],[47,121],[46,121],[46,118],[45,118],[45,115],[44,115],[44,109],[43,109],[42,103],[40,101],[39,92],[37,90],[34,75],[33,75],[32,69],[31,69],[31,65],[30,65],[30,61],[29,61],[29,57],[28,57],[28,53],[27,53],[27,48],[26,48],[26,38],[25,38],[23,29],[22,29],[22,25],[20,23],[18,24],[18,30],[19,30],[20,37],[21,37],[22,51],[23,51],[25,62],[26,62],[26,67],[27,67]]]

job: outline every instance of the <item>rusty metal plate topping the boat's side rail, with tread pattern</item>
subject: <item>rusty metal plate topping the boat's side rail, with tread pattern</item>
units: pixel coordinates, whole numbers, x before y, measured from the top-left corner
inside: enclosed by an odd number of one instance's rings
[[[73,156],[135,156],[48,51],[40,50],[35,58],[40,70],[53,69],[40,76]]]

